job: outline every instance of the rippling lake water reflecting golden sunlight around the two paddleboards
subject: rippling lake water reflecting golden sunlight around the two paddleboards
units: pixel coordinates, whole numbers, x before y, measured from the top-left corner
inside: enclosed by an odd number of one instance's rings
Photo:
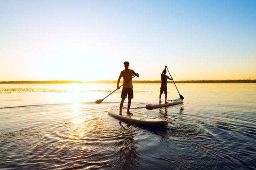
[[[169,122],[150,129],[107,114],[119,90],[94,103],[116,84],[0,84],[0,169],[256,170],[256,84],[176,85],[148,110],[160,85],[134,84],[131,111]]]

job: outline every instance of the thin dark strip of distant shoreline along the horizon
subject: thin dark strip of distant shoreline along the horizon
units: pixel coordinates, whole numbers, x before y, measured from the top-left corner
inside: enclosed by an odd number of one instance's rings
[[[116,80],[96,80],[96,81],[71,81],[71,80],[51,80],[51,81],[0,81],[0,84],[71,84],[71,83],[94,83],[106,84],[117,83]],[[161,83],[160,80],[134,80],[133,83]],[[168,80],[168,83],[173,83]],[[256,80],[185,80],[175,81],[175,83],[256,83]]]

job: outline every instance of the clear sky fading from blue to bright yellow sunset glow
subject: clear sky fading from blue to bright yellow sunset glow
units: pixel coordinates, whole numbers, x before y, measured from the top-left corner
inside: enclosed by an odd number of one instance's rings
[[[256,0],[0,0],[0,81],[117,80],[124,61],[135,80],[256,79]]]

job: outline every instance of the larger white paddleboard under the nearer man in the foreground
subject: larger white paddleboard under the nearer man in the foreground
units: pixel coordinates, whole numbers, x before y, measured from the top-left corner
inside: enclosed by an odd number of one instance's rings
[[[123,111],[122,115],[119,115],[119,110],[108,109],[108,114],[120,121],[129,124],[142,125],[142,126],[163,126],[167,125],[168,121],[164,119],[158,119],[139,113],[133,113],[133,115],[127,115],[126,111]]]

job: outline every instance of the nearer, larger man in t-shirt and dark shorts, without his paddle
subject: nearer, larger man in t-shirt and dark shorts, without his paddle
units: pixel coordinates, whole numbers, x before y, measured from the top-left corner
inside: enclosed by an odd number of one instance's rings
[[[137,76],[139,77],[139,74],[134,72],[134,70],[129,69],[130,63],[128,61],[124,62],[124,67],[125,69],[122,70],[120,72],[120,76],[117,80],[117,89],[120,89],[119,87],[119,83],[120,83],[120,79],[123,77],[124,80],[124,86],[122,88],[122,93],[121,93],[121,102],[120,102],[120,111],[119,111],[119,115],[122,115],[122,108],[124,105],[124,100],[127,98],[127,94],[128,94],[128,104],[127,104],[127,112],[126,114],[128,115],[132,115],[132,113],[130,112],[130,106],[131,106],[131,102],[132,102],[132,98],[133,98],[133,86],[132,86],[132,76]]]

